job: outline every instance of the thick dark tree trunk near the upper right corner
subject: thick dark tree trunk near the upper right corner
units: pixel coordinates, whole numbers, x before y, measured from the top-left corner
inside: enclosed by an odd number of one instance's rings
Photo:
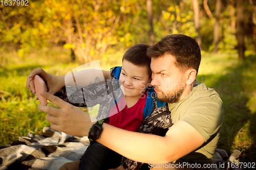
[[[243,17],[243,0],[237,1],[237,39],[238,39],[238,54],[239,59],[244,60],[244,17]]]

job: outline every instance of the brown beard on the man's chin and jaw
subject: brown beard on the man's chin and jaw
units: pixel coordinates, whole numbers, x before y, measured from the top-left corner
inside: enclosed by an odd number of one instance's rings
[[[156,88],[156,87],[155,87]],[[157,89],[157,88],[156,88]],[[164,93],[162,90],[157,89],[160,93],[156,93],[157,99],[163,103],[176,103],[180,100],[180,97],[184,91],[184,88],[175,89]]]

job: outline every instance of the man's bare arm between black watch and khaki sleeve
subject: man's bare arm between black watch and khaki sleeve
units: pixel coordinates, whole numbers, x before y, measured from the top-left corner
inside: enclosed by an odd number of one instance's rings
[[[144,163],[173,162],[205,142],[195,128],[182,120],[170,127],[164,137],[104,124],[97,141],[129,159]]]

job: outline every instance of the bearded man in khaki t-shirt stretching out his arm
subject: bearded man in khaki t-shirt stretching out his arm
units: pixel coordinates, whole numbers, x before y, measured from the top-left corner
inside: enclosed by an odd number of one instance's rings
[[[152,58],[151,85],[157,98],[168,103],[174,120],[164,137],[107,124],[101,130],[79,108],[46,92],[42,95],[60,108],[39,105],[38,109],[48,113],[46,119],[52,123],[52,129],[77,136],[90,135],[132,160],[155,164],[156,168],[183,168],[185,164],[176,166],[181,162],[193,164],[186,167],[210,168],[224,111],[218,93],[196,81],[201,61],[198,43],[185,35],[169,35],[150,47],[147,55]],[[89,133],[91,128],[100,135]],[[174,161],[176,164],[167,163]]]

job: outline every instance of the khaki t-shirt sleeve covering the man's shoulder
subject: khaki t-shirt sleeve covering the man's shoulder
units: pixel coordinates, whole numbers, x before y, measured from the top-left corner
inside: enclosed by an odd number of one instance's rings
[[[222,101],[210,90],[205,98],[199,98],[186,109],[186,114],[180,119],[194,127],[207,141],[211,135],[220,130],[224,119]]]

